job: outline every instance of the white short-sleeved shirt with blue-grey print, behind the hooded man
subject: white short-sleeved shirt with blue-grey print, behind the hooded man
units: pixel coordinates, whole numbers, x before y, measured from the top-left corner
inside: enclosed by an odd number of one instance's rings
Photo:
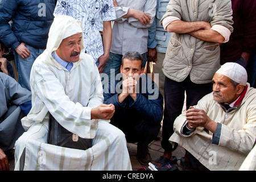
[[[100,20],[116,18],[112,0],[57,1],[55,14],[69,15],[82,22],[84,28],[84,52],[93,56],[95,61],[104,54],[100,35]]]

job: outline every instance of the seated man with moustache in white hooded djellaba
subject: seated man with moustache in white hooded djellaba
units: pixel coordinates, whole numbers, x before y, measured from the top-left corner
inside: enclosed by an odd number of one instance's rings
[[[31,69],[32,109],[15,143],[15,170],[131,170],[125,135],[109,123],[114,106],[102,104],[97,66],[81,52],[83,36],[79,20],[56,15],[47,48]],[[49,114],[79,138],[92,139],[92,147],[48,144]]]

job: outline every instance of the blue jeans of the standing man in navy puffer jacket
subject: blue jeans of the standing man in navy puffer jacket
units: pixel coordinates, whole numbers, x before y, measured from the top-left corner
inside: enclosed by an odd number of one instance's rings
[[[18,82],[19,84],[28,90],[30,89],[30,71],[35,59],[43,53],[44,49],[36,49],[34,47],[28,46],[26,44],[28,50],[30,50],[30,56],[23,59],[16,51],[14,51],[15,64],[18,72]]]

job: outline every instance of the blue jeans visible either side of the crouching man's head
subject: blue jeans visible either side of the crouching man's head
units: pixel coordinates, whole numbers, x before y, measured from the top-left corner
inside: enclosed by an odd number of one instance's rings
[[[147,53],[143,53],[143,63],[142,67],[144,68],[147,63]],[[115,75],[117,75],[120,72],[120,67],[122,65],[122,57],[123,55],[118,55],[117,53],[109,53],[109,60],[106,62],[106,65],[104,67],[104,73],[106,73],[110,78],[110,70],[114,69]]]

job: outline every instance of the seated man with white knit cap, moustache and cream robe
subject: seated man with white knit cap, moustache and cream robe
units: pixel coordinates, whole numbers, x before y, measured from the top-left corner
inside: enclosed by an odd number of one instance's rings
[[[181,158],[187,168],[240,168],[256,137],[256,89],[246,81],[241,65],[222,65],[213,76],[213,92],[176,118],[170,141],[188,151]]]

